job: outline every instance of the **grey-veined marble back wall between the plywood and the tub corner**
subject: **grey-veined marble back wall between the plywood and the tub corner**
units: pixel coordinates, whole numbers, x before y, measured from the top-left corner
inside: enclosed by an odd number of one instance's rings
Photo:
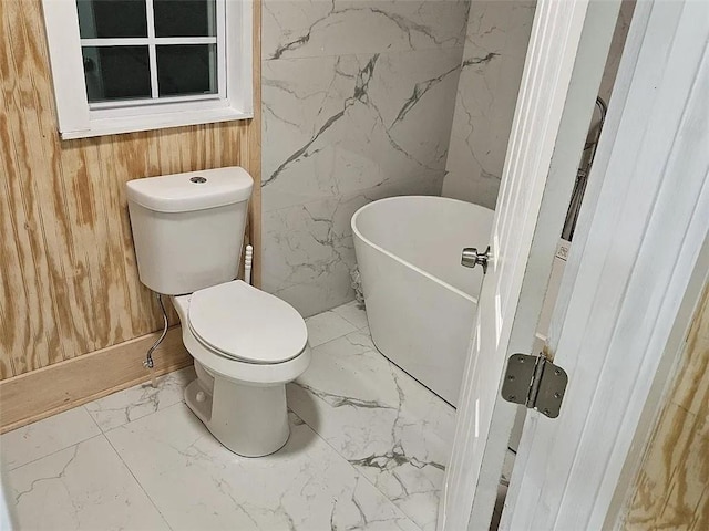
[[[353,299],[359,207],[440,195],[467,9],[264,1],[264,288],[305,316]]]

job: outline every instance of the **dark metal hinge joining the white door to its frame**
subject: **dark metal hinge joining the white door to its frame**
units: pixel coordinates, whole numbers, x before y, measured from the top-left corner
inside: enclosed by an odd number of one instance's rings
[[[567,383],[566,372],[543,355],[513,354],[507,360],[502,397],[556,418]]]

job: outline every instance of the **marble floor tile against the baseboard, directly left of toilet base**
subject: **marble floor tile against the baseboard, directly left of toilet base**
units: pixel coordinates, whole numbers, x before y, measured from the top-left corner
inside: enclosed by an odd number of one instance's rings
[[[184,388],[195,378],[194,367],[189,366],[160,376],[157,388],[147,382],[91,402],[84,407],[101,429],[109,431],[182,402]]]

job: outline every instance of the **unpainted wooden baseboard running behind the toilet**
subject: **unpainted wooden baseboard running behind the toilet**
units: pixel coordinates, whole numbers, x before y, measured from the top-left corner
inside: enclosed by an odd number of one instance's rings
[[[143,335],[0,382],[0,434],[151,379],[145,353],[158,333]],[[156,375],[192,364],[182,329],[167,331],[153,354]]]

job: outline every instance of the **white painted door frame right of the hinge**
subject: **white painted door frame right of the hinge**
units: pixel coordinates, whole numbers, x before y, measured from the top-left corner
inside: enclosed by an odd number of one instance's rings
[[[620,525],[709,271],[708,20],[636,7],[549,332],[565,404],[527,415],[501,529]]]

